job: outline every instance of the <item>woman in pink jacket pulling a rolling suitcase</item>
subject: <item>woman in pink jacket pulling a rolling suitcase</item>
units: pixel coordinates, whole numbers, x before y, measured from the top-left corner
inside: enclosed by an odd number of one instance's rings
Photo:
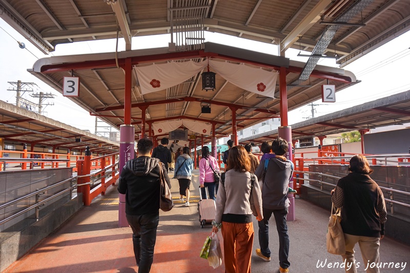
[[[209,198],[215,198],[215,181],[214,171],[219,174],[219,166],[216,158],[209,153],[208,146],[202,147],[202,159],[199,160],[199,186],[201,188],[202,199],[207,199],[205,188],[208,187]]]

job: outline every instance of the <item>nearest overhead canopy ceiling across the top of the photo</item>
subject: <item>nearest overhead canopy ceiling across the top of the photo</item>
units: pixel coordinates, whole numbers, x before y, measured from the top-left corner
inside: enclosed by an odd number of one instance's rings
[[[0,17],[45,53],[62,43],[116,38],[118,30],[130,50],[132,37],[193,26],[281,44],[282,50],[337,54],[343,67],[410,30],[410,2],[0,0]]]

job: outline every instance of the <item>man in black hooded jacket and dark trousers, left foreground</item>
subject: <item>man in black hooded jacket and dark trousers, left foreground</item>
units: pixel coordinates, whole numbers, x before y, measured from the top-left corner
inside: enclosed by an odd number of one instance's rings
[[[118,192],[126,195],[125,212],[132,229],[138,273],[151,270],[159,222],[159,168],[168,186],[168,168],[159,159],[151,158],[153,143],[141,139],[137,143],[138,157],[126,163],[118,182]],[[142,243],[142,244],[141,244]]]

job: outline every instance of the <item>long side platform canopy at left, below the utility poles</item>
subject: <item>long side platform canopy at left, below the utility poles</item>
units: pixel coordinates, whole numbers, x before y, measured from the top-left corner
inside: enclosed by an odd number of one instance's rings
[[[27,143],[34,146],[55,147],[70,151],[85,150],[93,153],[112,154],[119,150],[119,143],[93,135],[43,115],[16,107],[0,100],[0,137],[5,143]],[[76,139],[79,139],[80,141]]]

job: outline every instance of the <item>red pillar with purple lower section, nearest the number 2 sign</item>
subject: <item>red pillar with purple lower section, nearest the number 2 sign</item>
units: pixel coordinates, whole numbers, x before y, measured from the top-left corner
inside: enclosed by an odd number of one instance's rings
[[[286,158],[293,161],[292,154],[292,128],[288,126],[288,89],[286,87],[286,68],[280,67],[279,70],[279,90],[280,90],[280,127],[278,128],[278,136],[288,141],[289,149],[285,154]],[[289,186],[294,187],[293,177],[289,181]],[[295,196],[288,195],[291,205],[289,207],[288,220],[295,220]]]

